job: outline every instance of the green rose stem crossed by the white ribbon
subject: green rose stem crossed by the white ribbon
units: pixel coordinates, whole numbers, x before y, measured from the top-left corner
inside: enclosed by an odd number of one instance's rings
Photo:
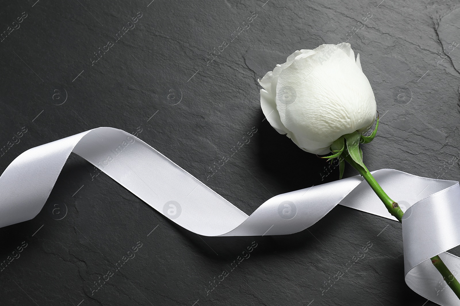
[[[348,163],[361,174],[366,182],[368,182],[369,186],[371,186],[375,194],[380,198],[380,200],[382,200],[383,204],[385,204],[388,212],[390,212],[392,216],[396,217],[398,221],[402,223],[401,220],[404,212],[401,210],[401,207],[399,207],[398,203],[391,200],[391,198],[385,193],[382,187],[380,187],[379,183],[377,183],[375,178],[369,172],[368,168],[364,166],[365,170],[362,169],[355,161],[353,161],[353,159],[351,159],[351,157],[348,155],[348,152],[344,151],[342,156],[345,161],[348,161]],[[457,297],[460,299],[460,283],[455,278],[454,274],[450,272],[449,268],[444,264],[439,255],[431,257],[431,262],[437,268],[437,271],[441,273],[444,281],[449,285],[450,289],[452,289],[455,295],[457,295]]]

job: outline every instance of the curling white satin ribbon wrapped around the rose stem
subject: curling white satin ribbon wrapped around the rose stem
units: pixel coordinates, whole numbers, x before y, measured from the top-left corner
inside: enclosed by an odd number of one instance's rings
[[[71,152],[165,217],[204,236],[293,234],[338,204],[396,220],[361,176],[276,195],[247,216],[144,141],[119,129],[95,128],[27,150],[11,162],[0,176],[0,227],[38,214]],[[460,306],[430,262],[439,254],[459,278],[460,258],[446,252],[460,244],[459,183],[393,169],[372,173],[405,210],[406,284],[439,305]]]

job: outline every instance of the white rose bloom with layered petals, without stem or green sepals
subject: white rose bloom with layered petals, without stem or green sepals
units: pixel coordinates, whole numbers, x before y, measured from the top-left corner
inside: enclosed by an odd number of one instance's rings
[[[307,152],[327,154],[340,136],[374,123],[374,92],[348,43],[295,51],[259,83],[268,122]]]

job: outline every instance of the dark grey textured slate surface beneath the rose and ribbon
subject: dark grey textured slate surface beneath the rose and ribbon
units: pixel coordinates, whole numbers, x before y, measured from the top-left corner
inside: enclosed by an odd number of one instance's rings
[[[0,32],[27,13],[0,43],[0,146],[27,128],[1,156],[2,171],[24,150],[89,128],[141,130],[138,137],[249,214],[272,195],[338,178],[264,121],[257,78],[294,50],[348,40],[381,115],[378,137],[363,148],[368,167],[459,179],[458,162],[449,165],[460,147],[460,48],[449,53],[460,42],[456,1],[35,1],[0,6]],[[92,66],[93,52],[138,12],[136,27]],[[207,65],[208,52],[253,12],[250,28]],[[253,127],[251,142],[206,181]],[[40,214],[0,229],[0,261],[27,243],[0,271],[2,305],[426,302],[404,283],[399,223],[340,206],[298,234],[200,237],[93,175],[72,155]],[[138,241],[136,257],[92,292]],[[250,258],[207,295],[253,241]],[[365,258],[322,295],[323,282],[368,241]]]

